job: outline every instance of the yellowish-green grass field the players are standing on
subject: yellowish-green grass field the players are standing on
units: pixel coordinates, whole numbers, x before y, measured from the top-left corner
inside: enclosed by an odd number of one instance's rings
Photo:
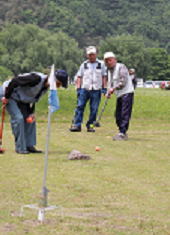
[[[60,91],[61,110],[53,115],[47,187],[49,204],[59,205],[37,222],[37,212],[20,209],[39,201],[44,154],[18,155],[5,123],[0,165],[2,235],[168,235],[170,234],[170,92],[137,89],[129,140],[114,142],[115,99],[96,133],[70,133],[75,91]],[[102,100],[102,103],[104,100]],[[46,140],[47,102],[37,106],[37,147]],[[87,119],[88,111],[85,113]],[[8,120],[8,118],[7,118]],[[96,152],[95,147],[101,151]],[[91,156],[70,161],[77,149]]]

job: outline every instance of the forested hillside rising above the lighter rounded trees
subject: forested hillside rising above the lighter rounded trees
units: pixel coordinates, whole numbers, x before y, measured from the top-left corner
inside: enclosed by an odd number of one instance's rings
[[[36,24],[65,32],[80,46],[124,33],[169,47],[169,0],[1,0],[0,12],[1,26],[5,22]]]

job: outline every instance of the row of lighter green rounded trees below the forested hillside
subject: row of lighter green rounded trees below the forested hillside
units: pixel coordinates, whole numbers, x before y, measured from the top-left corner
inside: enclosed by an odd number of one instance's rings
[[[99,58],[113,51],[120,62],[144,79],[170,79],[170,55],[165,48],[148,47],[142,36],[107,36],[97,45]],[[6,24],[0,32],[0,81],[19,73],[44,71],[55,63],[73,79],[85,50],[64,32],[52,33],[32,24]]]

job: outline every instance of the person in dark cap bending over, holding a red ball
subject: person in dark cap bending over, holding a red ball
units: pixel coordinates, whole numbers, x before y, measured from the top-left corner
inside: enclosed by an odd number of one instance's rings
[[[68,75],[64,70],[55,72],[57,87],[67,87]],[[15,138],[15,151],[19,154],[41,153],[36,145],[35,103],[48,90],[48,75],[38,72],[20,74],[3,83],[3,104],[10,115]]]

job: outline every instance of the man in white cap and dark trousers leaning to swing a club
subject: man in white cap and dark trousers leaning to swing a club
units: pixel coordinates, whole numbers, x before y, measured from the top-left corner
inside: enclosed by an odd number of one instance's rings
[[[113,52],[106,52],[104,61],[108,68],[108,96],[114,93],[117,97],[115,118],[119,133],[113,140],[127,140],[134,99],[132,79],[127,67],[117,62]]]

